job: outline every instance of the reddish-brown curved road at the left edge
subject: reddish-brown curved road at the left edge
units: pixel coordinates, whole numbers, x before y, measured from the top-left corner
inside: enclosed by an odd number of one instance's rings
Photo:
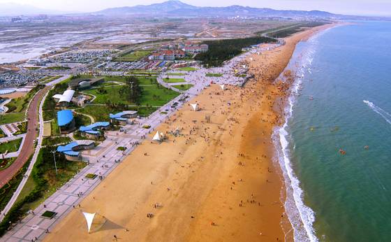
[[[15,176],[17,171],[19,171],[22,166],[29,160],[29,157],[34,152],[34,140],[38,135],[38,104],[43,95],[49,90],[50,87],[45,87],[43,90],[40,90],[31,100],[29,109],[27,110],[27,118],[29,124],[27,126],[27,134],[24,139],[24,145],[22,150],[20,150],[19,156],[15,159],[15,162],[11,164],[7,169],[0,171],[0,187],[3,187],[9,180]]]

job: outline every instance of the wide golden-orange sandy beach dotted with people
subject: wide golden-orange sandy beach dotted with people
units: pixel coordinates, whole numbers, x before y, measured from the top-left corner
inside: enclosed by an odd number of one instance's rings
[[[254,78],[245,87],[203,90],[189,102],[200,111],[186,104],[161,124],[157,130],[168,139],[152,143],[151,134],[45,241],[284,241],[283,187],[271,135],[290,85],[274,80],[299,41],[328,27],[251,56]],[[168,134],[177,127],[181,136]],[[81,211],[108,221],[88,234]]]

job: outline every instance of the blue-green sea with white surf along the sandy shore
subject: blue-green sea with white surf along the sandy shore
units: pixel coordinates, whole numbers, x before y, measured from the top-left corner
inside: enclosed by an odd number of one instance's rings
[[[391,241],[391,22],[297,45],[274,132],[295,241]]]

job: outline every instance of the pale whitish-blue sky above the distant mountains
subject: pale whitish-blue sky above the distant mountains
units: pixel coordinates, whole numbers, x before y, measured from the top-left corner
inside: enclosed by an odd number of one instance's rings
[[[94,12],[104,8],[161,3],[164,0],[0,0],[66,12]],[[193,6],[242,5],[290,10],[325,10],[348,15],[391,16],[391,0],[183,0]]]

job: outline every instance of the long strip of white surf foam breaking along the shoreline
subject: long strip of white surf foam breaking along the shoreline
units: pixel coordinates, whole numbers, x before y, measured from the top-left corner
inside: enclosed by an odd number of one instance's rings
[[[310,40],[315,43],[314,40]],[[299,61],[300,69],[297,69],[297,76],[304,77],[306,71],[309,70],[313,62],[312,56],[315,54],[314,50],[307,50],[302,55]],[[288,66],[289,68],[289,66]],[[308,72],[307,72],[308,73]],[[293,87],[292,93],[288,98],[288,106],[286,106],[286,120],[283,127],[278,127],[274,130],[273,139],[276,145],[277,157],[281,170],[283,171],[284,182],[286,185],[286,201],[285,208],[290,223],[293,227],[293,236],[295,241],[318,241],[313,229],[313,222],[315,221],[315,213],[304,204],[303,190],[300,188],[300,180],[295,176],[292,163],[290,160],[290,143],[288,132],[288,121],[293,113],[293,106],[295,104],[295,94],[300,92],[302,78],[297,78]]]

